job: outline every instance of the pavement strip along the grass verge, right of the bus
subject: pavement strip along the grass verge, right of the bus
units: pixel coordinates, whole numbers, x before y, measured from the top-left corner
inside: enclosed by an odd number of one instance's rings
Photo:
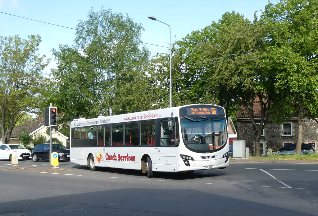
[[[269,159],[250,159],[250,158],[230,158],[230,163],[303,163],[318,164],[318,161],[305,160],[269,160]]]

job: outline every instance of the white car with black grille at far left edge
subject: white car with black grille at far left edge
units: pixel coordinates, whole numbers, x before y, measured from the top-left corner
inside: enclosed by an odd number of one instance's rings
[[[30,150],[24,148],[19,144],[0,145],[0,159],[11,160],[13,152],[17,152],[18,159],[30,160],[32,158],[32,153],[30,152]]]

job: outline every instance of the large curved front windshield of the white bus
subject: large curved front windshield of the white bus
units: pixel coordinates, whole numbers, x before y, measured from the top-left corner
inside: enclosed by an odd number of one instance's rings
[[[215,152],[227,141],[225,118],[184,116],[181,131],[184,145],[194,152]]]

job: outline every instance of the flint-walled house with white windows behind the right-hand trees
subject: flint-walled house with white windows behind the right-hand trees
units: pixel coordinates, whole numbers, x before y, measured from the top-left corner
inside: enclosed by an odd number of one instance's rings
[[[260,122],[260,106],[259,103],[254,103],[255,121],[259,119]],[[250,152],[255,154],[254,135],[252,129],[252,122],[248,115],[241,114],[239,111],[237,115],[237,139],[245,140],[246,148],[250,148]],[[269,120],[263,130],[260,140],[260,150],[262,155],[266,155],[267,149],[272,148],[278,150],[279,148],[297,142],[298,123],[297,117],[292,116],[286,120],[284,124],[276,124]],[[318,145],[318,124],[315,120],[303,120],[303,134],[302,143],[309,143],[317,149]]]

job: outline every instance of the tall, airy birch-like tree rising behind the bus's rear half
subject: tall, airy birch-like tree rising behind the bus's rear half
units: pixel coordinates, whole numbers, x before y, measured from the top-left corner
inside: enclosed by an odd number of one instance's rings
[[[142,47],[142,26],[121,13],[101,9],[80,21],[74,46],[53,50],[58,68],[52,71],[58,94],[50,98],[63,112],[62,122],[78,118],[142,111],[149,108],[149,51]],[[150,104],[151,105],[151,104]]]

